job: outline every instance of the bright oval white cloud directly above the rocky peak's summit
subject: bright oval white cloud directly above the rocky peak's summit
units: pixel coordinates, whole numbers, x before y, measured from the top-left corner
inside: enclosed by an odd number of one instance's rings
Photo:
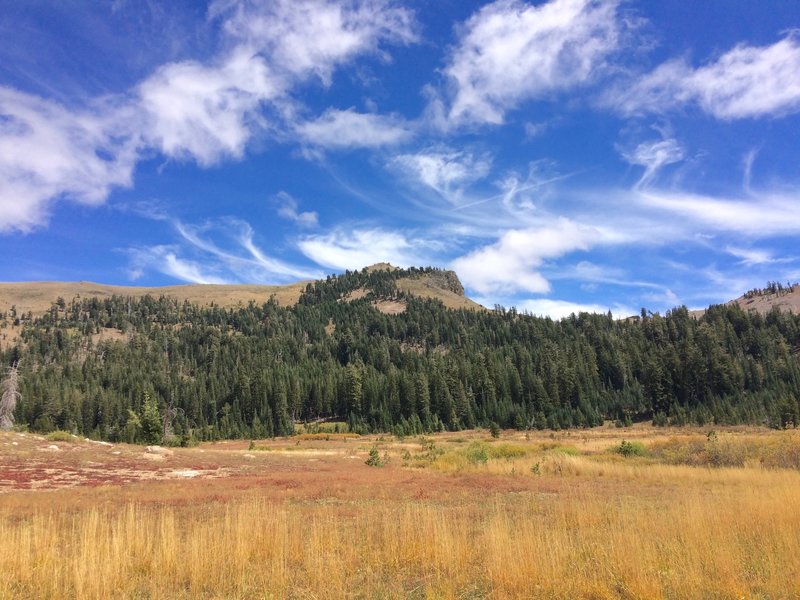
[[[333,269],[361,269],[379,262],[410,267],[430,262],[418,252],[431,244],[420,239],[384,229],[336,230],[325,235],[309,236],[298,243],[308,258]]]

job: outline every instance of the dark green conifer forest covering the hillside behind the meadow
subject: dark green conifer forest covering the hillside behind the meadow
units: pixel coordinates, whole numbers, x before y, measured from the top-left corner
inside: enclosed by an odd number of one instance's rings
[[[800,420],[800,317],[713,306],[616,321],[452,310],[401,291],[433,269],[345,273],[300,302],[223,309],[174,298],[58,299],[22,317],[17,425],[106,440],[356,431]],[[354,293],[358,291],[359,293]],[[405,305],[384,314],[381,302]],[[113,329],[117,339],[100,339]],[[160,425],[159,425],[160,424]],[[165,427],[166,425],[166,427]]]

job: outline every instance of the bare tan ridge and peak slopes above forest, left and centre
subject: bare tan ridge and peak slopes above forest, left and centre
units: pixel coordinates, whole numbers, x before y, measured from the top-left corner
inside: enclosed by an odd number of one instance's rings
[[[397,271],[389,263],[378,263],[365,267],[366,272]],[[404,272],[405,273],[405,272]],[[30,312],[39,316],[50,310],[57,298],[69,302],[74,298],[97,298],[99,300],[112,296],[141,298],[143,296],[165,296],[174,298],[179,302],[188,301],[199,306],[221,308],[235,308],[247,306],[250,302],[262,304],[274,297],[279,306],[294,306],[300,300],[300,295],[312,281],[298,281],[286,285],[256,285],[256,284],[187,284],[165,287],[138,287],[106,285],[88,281],[61,282],[61,281],[30,281],[20,283],[0,283],[0,312],[8,312],[14,307],[17,315]],[[467,308],[472,310],[485,310],[480,304],[464,296],[464,287],[453,271],[433,270],[428,273],[414,275],[405,274],[396,280],[397,288],[404,293],[418,298],[431,298],[441,300],[446,308]],[[353,297],[366,295],[370,290],[352,292]],[[404,310],[405,302],[389,304],[386,301],[376,301],[378,310],[387,313],[397,313]]]

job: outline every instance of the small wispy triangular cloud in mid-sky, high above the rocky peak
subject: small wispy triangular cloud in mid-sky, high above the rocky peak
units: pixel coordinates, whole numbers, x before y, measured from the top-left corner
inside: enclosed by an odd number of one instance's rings
[[[476,156],[467,151],[434,148],[416,154],[401,154],[391,164],[451,204],[458,204],[467,187],[489,174],[492,159],[488,154]]]

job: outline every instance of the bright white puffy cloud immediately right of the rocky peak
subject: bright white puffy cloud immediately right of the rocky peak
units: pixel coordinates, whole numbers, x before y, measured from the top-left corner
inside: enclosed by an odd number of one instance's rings
[[[602,238],[598,229],[561,218],[548,227],[507,231],[494,244],[455,259],[452,266],[465,286],[479,294],[545,293],[550,283],[538,271],[545,260],[588,250]]]

